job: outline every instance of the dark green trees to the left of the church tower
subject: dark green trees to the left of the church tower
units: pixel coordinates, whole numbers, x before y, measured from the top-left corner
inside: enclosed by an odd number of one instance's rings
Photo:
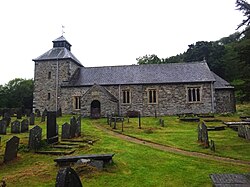
[[[16,78],[0,86],[0,108],[32,108],[34,82]]]

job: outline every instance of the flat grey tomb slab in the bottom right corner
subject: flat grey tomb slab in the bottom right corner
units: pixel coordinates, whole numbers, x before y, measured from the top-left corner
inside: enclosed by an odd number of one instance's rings
[[[214,186],[250,186],[249,174],[211,174]]]

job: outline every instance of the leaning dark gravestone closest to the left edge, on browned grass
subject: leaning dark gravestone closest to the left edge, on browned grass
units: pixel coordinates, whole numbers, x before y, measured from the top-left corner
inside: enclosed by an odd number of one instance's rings
[[[13,136],[6,142],[5,153],[4,153],[4,162],[11,161],[17,157],[17,151],[19,146],[19,138]]]

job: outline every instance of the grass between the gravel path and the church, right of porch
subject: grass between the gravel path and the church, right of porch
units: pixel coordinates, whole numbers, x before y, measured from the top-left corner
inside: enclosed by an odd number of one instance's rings
[[[214,140],[216,151],[204,149],[198,142],[197,125],[198,122],[183,122],[177,116],[161,117],[165,121],[165,126],[161,127],[159,118],[146,117],[141,119],[141,129],[138,128],[138,118],[130,118],[129,123],[124,121],[124,131],[122,132],[121,123],[117,123],[116,132],[149,140],[159,144],[172,146],[188,151],[202,152],[222,157],[229,157],[240,160],[250,161],[250,142],[238,137],[238,133],[231,128],[223,131],[209,131],[209,139]],[[239,115],[216,116],[216,119],[223,121],[240,121]],[[108,129],[106,119],[94,122]],[[222,126],[222,122],[206,122],[209,126]]]

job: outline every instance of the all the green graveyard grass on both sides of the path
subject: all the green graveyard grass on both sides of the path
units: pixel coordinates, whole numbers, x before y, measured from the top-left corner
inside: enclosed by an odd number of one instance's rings
[[[217,116],[227,121],[238,121],[239,115],[249,112],[250,105],[240,106],[238,114]],[[64,122],[71,116],[57,118],[59,134]],[[226,128],[224,131],[209,131],[209,138],[215,141],[216,152],[203,149],[197,143],[197,123],[180,122],[175,116],[166,116],[165,126],[160,127],[159,118],[142,118],[142,129],[138,129],[138,119],[124,122],[124,134],[150,140],[181,149],[215,154],[224,157],[250,161],[249,141],[237,136],[237,132]],[[36,125],[43,129],[46,138],[46,123],[36,119]],[[207,123],[217,126],[221,123]],[[234,165],[202,158],[156,150],[118,139],[96,128],[107,129],[106,119],[82,119],[82,137],[95,140],[93,145],[84,144],[73,155],[94,153],[115,153],[114,163],[103,171],[92,169],[82,171],[79,176],[83,186],[212,186],[209,174],[212,173],[249,173],[249,165]],[[31,129],[33,126],[29,126]],[[121,133],[121,124],[117,130]],[[27,148],[28,133],[15,134],[20,138],[18,158],[7,164],[0,164],[0,180],[7,186],[55,186],[58,167],[53,161],[59,156],[42,155],[29,152]],[[11,138],[10,128],[7,135],[1,135],[0,160],[3,160],[6,141]],[[44,145],[46,143],[44,142]],[[45,150],[49,149],[44,147]]]

